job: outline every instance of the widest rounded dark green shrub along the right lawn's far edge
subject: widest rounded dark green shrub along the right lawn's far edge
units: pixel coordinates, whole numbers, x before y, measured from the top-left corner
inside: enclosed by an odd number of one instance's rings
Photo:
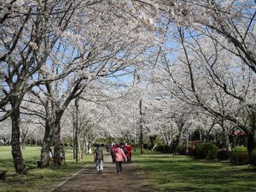
[[[218,147],[212,143],[201,143],[191,151],[191,155],[196,159],[215,159],[218,153]]]

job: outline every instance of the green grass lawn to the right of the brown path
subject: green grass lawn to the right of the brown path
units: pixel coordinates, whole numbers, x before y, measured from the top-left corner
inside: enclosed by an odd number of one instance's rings
[[[256,171],[227,161],[172,154],[133,154],[145,184],[154,191],[256,191]]]

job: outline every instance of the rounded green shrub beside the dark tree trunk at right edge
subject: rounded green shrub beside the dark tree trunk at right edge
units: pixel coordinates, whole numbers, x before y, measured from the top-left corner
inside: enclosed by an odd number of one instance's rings
[[[236,166],[247,165],[249,163],[247,148],[243,146],[233,148],[231,151],[230,163]]]

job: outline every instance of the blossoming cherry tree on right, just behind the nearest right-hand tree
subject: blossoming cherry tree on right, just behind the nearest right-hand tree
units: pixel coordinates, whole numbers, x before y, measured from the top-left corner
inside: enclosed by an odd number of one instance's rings
[[[232,127],[227,129],[226,124],[230,124],[227,121],[243,125],[246,121],[242,116],[247,117],[251,113],[244,109],[253,105],[254,73],[245,70],[240,57],[218,47],[212,38],[183,28],[177,28],[176,38],[182,50],[177,51],[177,60],[170,61],[164,51],[162,60],[170,75],[172,94],[218,118],[217,122],[226,137],[226,146],[229,146],[228,137]],[[218,38],[218,41],[221,39]],[[247,126],[243,130],[251,132],[253,127]],[[254,148],[250,143],[247,146],[248,152]]]

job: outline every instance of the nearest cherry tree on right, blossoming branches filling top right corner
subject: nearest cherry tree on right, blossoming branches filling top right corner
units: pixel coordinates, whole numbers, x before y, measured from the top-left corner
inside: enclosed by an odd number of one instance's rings
[[[237,60],[246,65],[244,70],[255,73],[255,1],[121,1],[115,4],[120,9],[127,9],[127,13],[136,17],[142,23],[148,26],[157,25],[162,28],[164,38],[163,44],[160,44],[158,54],[156,54],[156,63],[159,59],[160,52],[165,44],[165,38],[173,30],[172,26],[187,26],[195,29],[193,35],[203,35],[212,38],[218,47],[225,49],[228,55],[236,56]],[[170,32],[170,33],[169,33]],[[212,35],[214,34],[214,35]],[[218,34],[218,35],[216,35]],[[187,38],[187,37],[186,37]],[[202,55],[204,56],[204,55]],[[209,59],[209,58],[207,58]],[[211,59],[211,58],[210,58]],[[205,62],[205,61],[204,61]],[[204,63],[203,62],[203,63]],[[224,64],[222,64],[225,66]],[[213,67],[212,67],[213,68]],[[191,73],[190,73],[191,75]],[[233,73],[234,75],[234,73]],[[193,76],[193,75],[192,75]],[[215,77],[214,77],[215,76]],[[228,84],[218,79],[218,74],[212,72],[214,83],[221,87],[224,92],[233,96],[235,100],[244,102],[245,98],[240,96],[240,92],[232,92],[227,89]],[[250,87],[252,87],[250,85]],[[193,89],[193,88],[192,88]],[[238,93],[238,94],[237,94]],[[252,94],[249,94],[252,96]],[[236,101],[237,102],[237,101]],[[255,148],[255,102],[245,102],[247,113],[247,132],[248,152]],[[218,115],[221,116],[221,115]],[[232,119],[231,121],[236,121]],[[239,124],[236,121],[236,124]],[[251,143],[251,144],[249,144]],[[254,146],[254,147],[253,147]]]

